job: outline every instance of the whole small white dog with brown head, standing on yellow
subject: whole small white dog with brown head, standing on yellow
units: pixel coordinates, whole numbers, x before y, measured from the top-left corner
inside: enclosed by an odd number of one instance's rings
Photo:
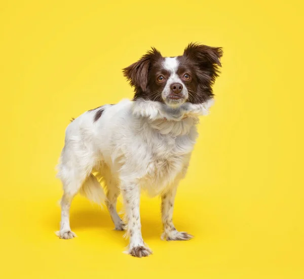
[[[221,48],[196,43],[177,57],[163,57],[152,48],[123,69],[135,90],[132,101],[103,105],[72,120],[58,165],[64,191],[57,232],[60,238],[75,236],[69,209],[72,198],[80,192],[96,203],[104,202],[115,229],[126,229],[130,255],[150,255],[141,235],[141,189],[161,196],[163,239],[192,238],[175,229],[173,204],[198,136],[198,116],[207,114],[213,103],[212,85],[219,74],[221,56]],[[120,193],[125,223],[116,211]]]

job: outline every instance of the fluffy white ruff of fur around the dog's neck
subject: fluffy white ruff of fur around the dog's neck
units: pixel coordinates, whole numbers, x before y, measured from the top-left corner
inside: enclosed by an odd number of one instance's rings
[[[212,104],[213,99],[209,99],[201,104],[184,103],[171,108],[161,102],[138,99],[133,103],[132,112],[160,134],[179,136],[188,134],[191,127],[199,123],[198,116],[208,114]]]

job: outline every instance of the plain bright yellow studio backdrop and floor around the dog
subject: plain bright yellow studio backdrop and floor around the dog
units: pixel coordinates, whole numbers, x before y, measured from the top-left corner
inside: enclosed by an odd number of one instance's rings
[[[303,278],[301,1],[7,1],[0,6],[3,278]],[[162,242],[160,201],[142,198],[154,255],[122,253],[105,210],[75,198],[59,240],[54,167],[71,117],[132,97],[121,69],[151,46],[223,47],[215,106],[203,117]],[[121,204],[119,205],[121,207]]]

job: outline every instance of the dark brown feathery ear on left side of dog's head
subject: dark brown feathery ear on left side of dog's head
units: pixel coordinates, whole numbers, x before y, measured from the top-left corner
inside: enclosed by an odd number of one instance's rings
[[[135,87],[135,90],[140,88],[145,92],[148,83],[148,70],[153,59],[162,57],[161,53],[152,48],[143,55],[137,62],[123,69],[124,76],[127,77],[130,85]]]

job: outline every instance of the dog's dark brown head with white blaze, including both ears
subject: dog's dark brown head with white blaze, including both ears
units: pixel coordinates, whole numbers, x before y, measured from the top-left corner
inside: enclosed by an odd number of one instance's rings
[[[221,56],[221,48],[193,43],[177,57],[163,57],[153,48],[123,72],[135,88],[134,100],[158,101],[171,107],[184,102],[198,104],[213,97]]]

